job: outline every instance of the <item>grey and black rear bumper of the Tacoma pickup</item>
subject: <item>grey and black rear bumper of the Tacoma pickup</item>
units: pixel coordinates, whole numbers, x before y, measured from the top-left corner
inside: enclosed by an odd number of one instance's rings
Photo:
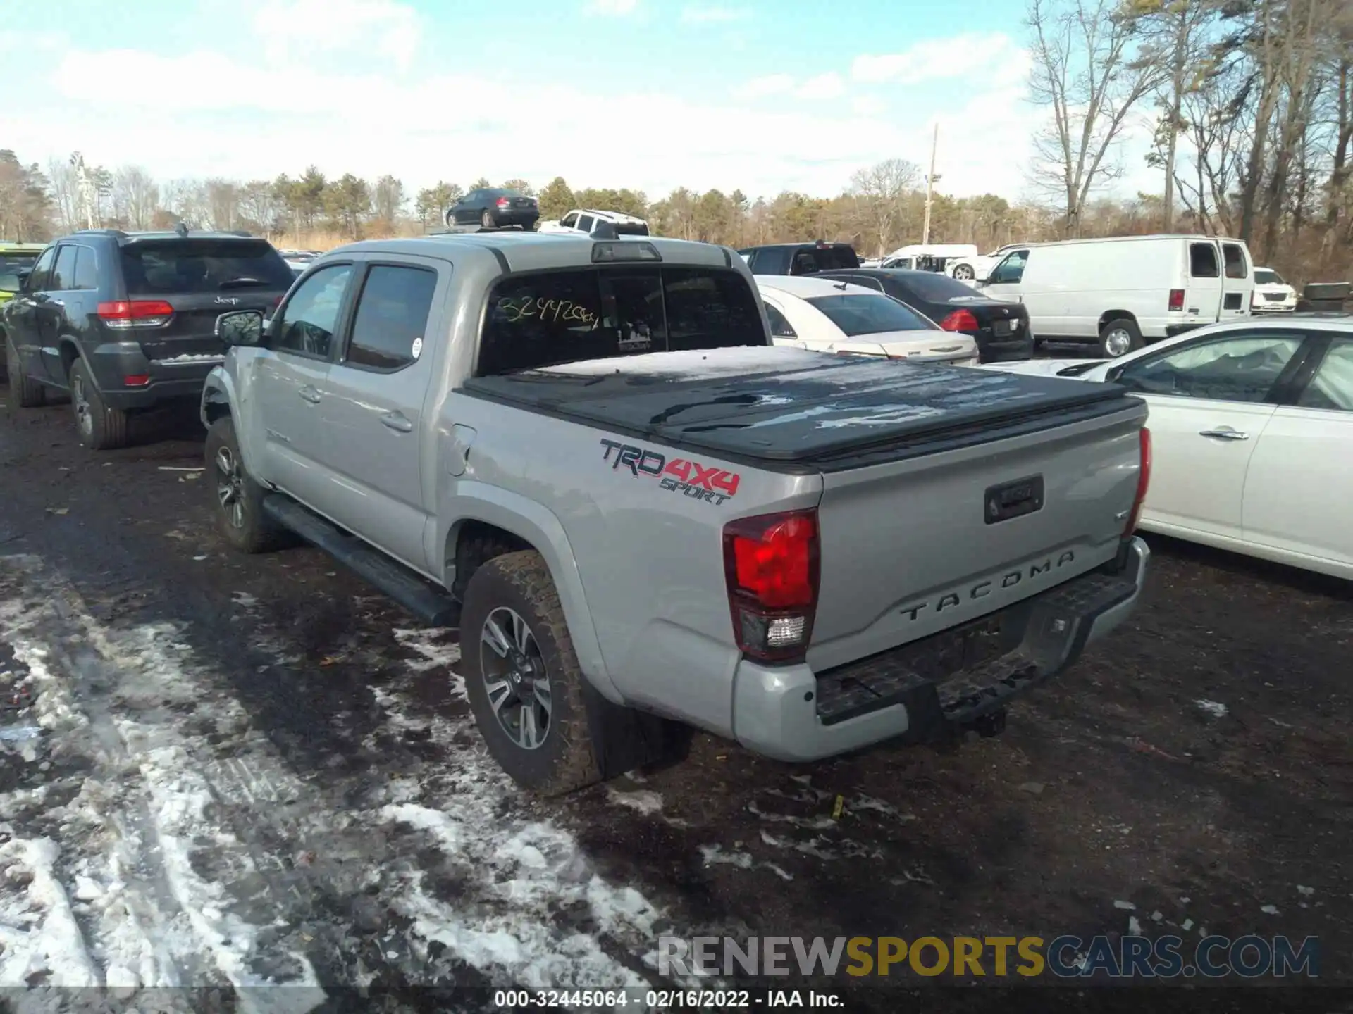
[[[1122,623],[1137,606],[1149,561],[1146,542],[1132,538],[1108,568],[821,673],[744,658],[733,683],[733,734],[748,749],[787,761],[951,735],[1062,672]],[[955,652],[982,661],[954,671]],[[946,675],[927,675],[936,672]]]

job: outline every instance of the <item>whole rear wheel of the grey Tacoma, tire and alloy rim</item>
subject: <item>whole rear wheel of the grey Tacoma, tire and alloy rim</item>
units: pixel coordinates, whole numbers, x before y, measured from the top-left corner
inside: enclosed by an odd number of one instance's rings
[[[475,723],[511,780],[543,795],[599,781],[586,677],[540,553],[507,553],[475,571],[460,635]]]

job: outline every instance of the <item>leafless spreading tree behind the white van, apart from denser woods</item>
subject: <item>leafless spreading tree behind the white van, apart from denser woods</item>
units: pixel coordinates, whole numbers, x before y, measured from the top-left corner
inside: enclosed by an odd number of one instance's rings
[[[1138,59],[1137,19],[1114,0],[1030,0],[1026,24],[1034,35],[1032,100],[1053,111],[1034,138],[1034,180],[1065,207],[1066,235],[1080,234],[1091,191],[1116,178],[1108,161],[1127,115],[1158,85],[1161,68]]]

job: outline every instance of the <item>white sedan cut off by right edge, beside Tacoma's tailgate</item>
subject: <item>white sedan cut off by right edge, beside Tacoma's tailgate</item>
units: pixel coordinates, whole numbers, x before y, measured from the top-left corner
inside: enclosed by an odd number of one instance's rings
[[[1116,360],[982,369],[1139,393],[1153,454],[1142,529],[1353,580],[1353,316],[1227,322]]]

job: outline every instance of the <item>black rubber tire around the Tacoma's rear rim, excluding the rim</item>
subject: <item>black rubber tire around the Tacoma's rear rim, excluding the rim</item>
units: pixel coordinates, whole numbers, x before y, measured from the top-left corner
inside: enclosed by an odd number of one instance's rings
[[[480,631],[488,615],[501,607],[514,610],[526,621],[549,680],[549,729],[536,749],[515,744],[488,703],[480,662]],[[559,592],[540,553],[507,553],[480,565],[465,588],[460,631],[469,708],[490,756],[509,777],[522,788],[547,796],[599,781],[601,765],[593,748],[583,696],[586,676],[574,653]]]

